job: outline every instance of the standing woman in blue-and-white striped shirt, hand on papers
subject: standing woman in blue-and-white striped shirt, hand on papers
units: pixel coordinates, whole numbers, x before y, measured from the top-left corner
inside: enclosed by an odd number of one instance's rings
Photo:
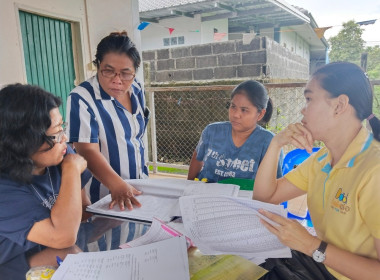
[[[96,75],[74,88],[67,100],[69,142],[94,175],[91,202],[111,193],[110,208],[140,206],[139,192],[124,180],[148,176],[143,136],[149,110],[135,79],[140,61],[126,32],[111,33],[97,46]]]

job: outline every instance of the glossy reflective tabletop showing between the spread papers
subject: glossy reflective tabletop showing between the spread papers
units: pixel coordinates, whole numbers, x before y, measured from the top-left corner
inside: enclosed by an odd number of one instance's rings
[[[86,244],[83,243],[83,240],[79,240],[82,242],[80,247],[88,251],[117,249],[119,245],[127,241],[128,235],[131,236],[128,234],[131,222],[124,219],[94,216],[90,223],[82,226],[84,226]],[[135,228],[138,231],[134,234],[136,238],[144,234],[149,229],[149,225],[135,223]],[[242,257],[235,255],[205,256],[195,247],[188,250],[188,258],[191,280],[253,280],[259,279],[266,273],[265,269]]]

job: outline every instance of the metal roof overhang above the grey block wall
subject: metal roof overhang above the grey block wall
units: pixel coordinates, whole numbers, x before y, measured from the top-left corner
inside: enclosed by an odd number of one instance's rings
[[[139,0],[139,7],[140,18],[150,22],[195,14],[201,14],[202,21],[228,18],[229,32],[310,22],[304,13],[278,0]]]

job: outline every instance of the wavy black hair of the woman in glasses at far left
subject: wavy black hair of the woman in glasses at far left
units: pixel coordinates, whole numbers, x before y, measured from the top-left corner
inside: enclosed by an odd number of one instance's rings
[[[28,183],[32,179],[31,156],[47,142],[50,111],[61,100],[37,86],[13,84],[0,90],[0,176]]]

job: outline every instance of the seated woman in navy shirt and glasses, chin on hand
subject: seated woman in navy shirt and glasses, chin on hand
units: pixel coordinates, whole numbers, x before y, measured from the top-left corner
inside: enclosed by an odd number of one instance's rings
[[[0,90],[0,275],[23,279],[30,267],[76,253],[87,163],[66,145],[61,101],[36,86]]]

